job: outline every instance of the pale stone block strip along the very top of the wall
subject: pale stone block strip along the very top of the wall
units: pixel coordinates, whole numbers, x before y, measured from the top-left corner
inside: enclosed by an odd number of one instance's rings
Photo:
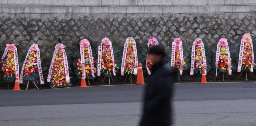
[[[0,5],[130,6],[130,5],[241,5],[256,0],[1,0]]]

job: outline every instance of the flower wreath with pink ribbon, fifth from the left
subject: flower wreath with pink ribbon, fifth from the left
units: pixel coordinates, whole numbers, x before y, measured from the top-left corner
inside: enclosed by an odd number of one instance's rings
[[[114,56],[114,54],[117,53],[118,48],[116,45],[113,45],[113,43],[114,40],[110,41],[107,37],[98,42],[98,76],[100,76],[100,73],[102,72],[105,76],[112,77],[112,75],[115,76],[118,71]]]

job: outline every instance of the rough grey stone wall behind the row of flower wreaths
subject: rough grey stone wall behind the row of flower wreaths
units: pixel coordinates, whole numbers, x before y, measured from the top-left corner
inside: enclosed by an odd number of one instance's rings
[[[66,42],[83,38],[92,38],[96,41],[103,37],[124,40],[130,35],[141,44],[145,43],[148,37],[155,36],[166,49],[167,42],[175,37],[186,40],[187,48],[190,47],[192,39],[200,37],[206,39],[207,46],[212,49],[214,42],[222,37],[230,40],[234,46],[237,43],[236,39],[244,33],[256,35],[256,5],[0,8],[0,38],[19,41],[22,48],[33,43],[38,43],[42,47],[45,43],[51,44],[57,38]],[[192,8],[196,8],[196,13]],[[23,10],[26,12],[22,12]],[[142,10],[144,12],[140,12]],[[46,70],[47,65],[44,68]],[[207,78],[213,79],[214,73],[215,71],[211,71]],[[238,75],[232,74],[231,79],[237,78]],[[192,79],[189,71],[184,71],[184,79]],[[101,80],[102,77],[98,77],[98,81]],[[118,75],[114,80],[123,79]]]

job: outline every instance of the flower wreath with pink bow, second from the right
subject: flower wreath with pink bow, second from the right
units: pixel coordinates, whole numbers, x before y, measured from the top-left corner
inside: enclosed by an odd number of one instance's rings
[[[216,53],[213,55],[215,60],[212,62],[212,67],[216,69],[216,76],[218,70],[224,73],[228,71],[228,74],[231,75],[232,69],[235,69],[233,67],[235,64],[232,63],[234,49],[231,43],[227,39],[222,38],[218,41],[215,50]]]

